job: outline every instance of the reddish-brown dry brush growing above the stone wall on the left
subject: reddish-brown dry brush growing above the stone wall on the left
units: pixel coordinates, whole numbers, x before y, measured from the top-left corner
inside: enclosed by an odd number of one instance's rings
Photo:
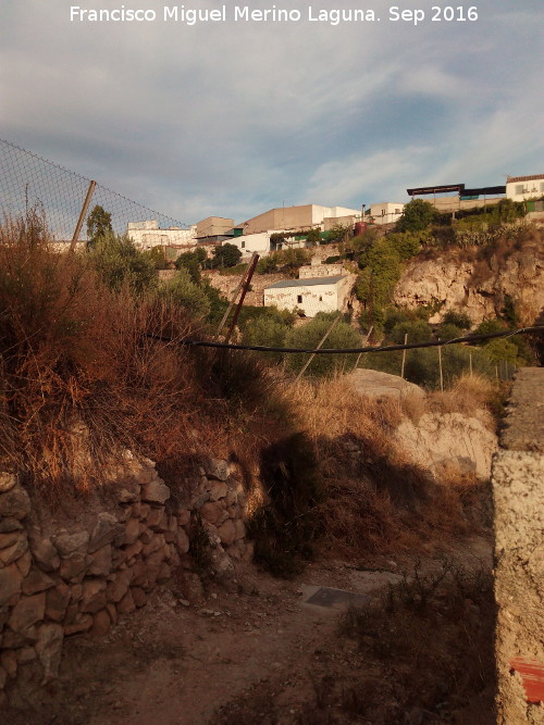
[[[183,486],[199,454],[236,458],[244,433],[238,458],[255,470],[288,416],[255,360],[180,345],[198,335],[181,308],[112,292],[85,255],[51,251],[40,220],[7,222],[0,465],[54,497],[103,486],[131,448]]]

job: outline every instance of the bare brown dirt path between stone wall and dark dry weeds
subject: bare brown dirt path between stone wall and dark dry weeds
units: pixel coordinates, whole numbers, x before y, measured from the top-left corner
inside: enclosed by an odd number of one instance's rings
[[[489,558],[485,542],[472,549]],[[182,599],[180,587],[164,587],[107,636],[69,640],[60,680],[32,714],[13,723],[306,722],[321,665],[342,666],[335,649],[339,612],[305,604],[308,587],[372,593],[399,580],[409,564],[368,563],[382,571],[314,564],[287,583],[247,567],[234,591],[211,585],[199,603]]]

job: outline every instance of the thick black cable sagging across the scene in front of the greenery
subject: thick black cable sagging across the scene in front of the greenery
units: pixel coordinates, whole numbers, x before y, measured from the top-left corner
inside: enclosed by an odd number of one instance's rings
[[[211,342],[208,340],[175,340],[162,335],[147,333],[146,337],[162,342],[176,342],[195,348],[220,348],[223,350],[254,350],[255,352],[287,352],[287,353],[307,353],[307,354],[339,354],[339,353],[367,353],[367,352],[392,352],[393,350],[416,350],[418,348],[445,347],[446,345],[457,345],[459,342],[473,342],[477,340],[491,340],[495,337],[512,337],[514,335],[527,335],[529,333],[544,333],[544,326],[520,327],[519,329],[508,329],[504,333],[487,333],[485,335],[467,335],[466,337],[456,337],[453,340],[431,340],[430,342],[412,342],[410,345],[386,345],[381,348],[319,348],[316,350],[307,348],[269,348],[264,345],[235,345],[233,342]]]

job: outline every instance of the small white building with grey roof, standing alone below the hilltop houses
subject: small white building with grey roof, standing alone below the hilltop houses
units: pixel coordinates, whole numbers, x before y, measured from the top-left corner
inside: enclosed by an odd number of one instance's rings
[[[307,317],[318,312],[342,310],[350,291],[349,275],[282,279],[264,288],[264,307],[279,310],[302,310]]]

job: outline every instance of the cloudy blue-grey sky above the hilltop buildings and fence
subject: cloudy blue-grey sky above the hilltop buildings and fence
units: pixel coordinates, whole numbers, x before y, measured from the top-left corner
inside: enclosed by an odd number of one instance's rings
[[[71,21],[77,2],[157,20]],[[224,2],[226,21],[190,26],[163,21],[168,1],[1,0],[0,138],[186,224],[544,173],[542,0],[452,5],[473,21],[400,3],[417,24],[383,0]],[[235,22],[244,2],[300,20]]]

